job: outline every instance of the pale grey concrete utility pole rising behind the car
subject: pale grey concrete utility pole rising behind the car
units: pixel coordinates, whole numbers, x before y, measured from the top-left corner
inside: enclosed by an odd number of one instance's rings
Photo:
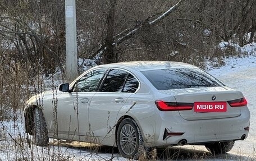
[[[65,0],[65,17],[66,79],[72,81],[77,77],[76,0]]]

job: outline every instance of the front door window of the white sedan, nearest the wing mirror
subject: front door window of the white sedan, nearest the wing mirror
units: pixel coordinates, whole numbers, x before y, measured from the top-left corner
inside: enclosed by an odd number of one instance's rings
[[[88,92],[97,89],[100,79],[104,76],[106,69],[99,69],[86,73],[83,77],[77,80],[72,91]]]

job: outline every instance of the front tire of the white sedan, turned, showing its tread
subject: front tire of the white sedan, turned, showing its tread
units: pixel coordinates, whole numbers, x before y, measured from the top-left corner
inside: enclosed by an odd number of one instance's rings
[[[35,108],[34,110],[33,135],[35,145],[48,146],[49,137],[47,126],[43,116],[43,111],[39,108]]]

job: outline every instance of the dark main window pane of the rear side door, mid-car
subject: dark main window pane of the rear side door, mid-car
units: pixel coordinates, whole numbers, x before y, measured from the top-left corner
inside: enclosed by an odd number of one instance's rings
[[[126,71],[111,69],[102,85],[101,91],[122,92],[128,74]]]

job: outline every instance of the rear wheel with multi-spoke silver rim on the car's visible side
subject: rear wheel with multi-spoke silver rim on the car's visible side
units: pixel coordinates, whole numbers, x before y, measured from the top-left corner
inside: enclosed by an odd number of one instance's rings
[[[125,118],[118,126],[116,142],[122,157],[139,159],[146,154],[139,126],[131,118]]]

